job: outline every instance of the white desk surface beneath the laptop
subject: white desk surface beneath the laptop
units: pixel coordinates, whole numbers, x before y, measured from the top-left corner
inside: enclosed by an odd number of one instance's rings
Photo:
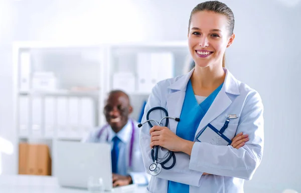
[[[88,190],[65,188],[57,178],[38,175],[0,175],[1,193],[88,193]],[[118,193],[114,191],[114,193]],[[146,193],[146,186],[137,187],[134,193]]]

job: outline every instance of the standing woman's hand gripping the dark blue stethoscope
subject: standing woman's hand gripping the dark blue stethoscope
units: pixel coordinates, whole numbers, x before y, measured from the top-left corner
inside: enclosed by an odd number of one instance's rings
[[[150,147],[160,145],[171,151],[182,151],[184,139],[178,137],[167,127],[154,126],[149,130]]]

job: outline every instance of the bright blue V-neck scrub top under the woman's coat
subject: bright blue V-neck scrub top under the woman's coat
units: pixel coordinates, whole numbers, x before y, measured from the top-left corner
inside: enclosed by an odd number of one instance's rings
[[[180,115],[180,122],[176,134],[186,140],[194,141],[198,126],[221,90],[223,84],[215,89],[201,104],[198,104],[193,92],[191,81],[188,81],[185,99]],[[189,193],[189,185],[175,181],[169,181],[168,193]]]

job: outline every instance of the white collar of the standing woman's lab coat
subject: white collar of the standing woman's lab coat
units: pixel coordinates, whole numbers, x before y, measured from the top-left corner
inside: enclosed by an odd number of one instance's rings
[[[226,68],[223,69],[224,72],[226,73],[226,77],[221,90],[226,93],[240,95],[238,81],[235,79],[235,77],[230,73],[228,69]],[[194,68],[189,73],[181,76],[178,80],[172,83],[168,88],[185,92],[188,81],[190,80],[190,77],[192,76],[193,72],[194,72]]]

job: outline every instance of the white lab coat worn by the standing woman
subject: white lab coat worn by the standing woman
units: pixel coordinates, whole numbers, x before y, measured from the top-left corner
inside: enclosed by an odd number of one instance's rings
[[[156,106],[166,108],[171,117],[180,117],[186,86],[193,71],[194,69],[186,75],[159,82],[148,98],[142,122],[146,120],[147,111]],[[152,176],[148,192],[167,192],[168,180],[172,180],[189,184],[190,193],[241,193],[244,180],[252,178],[263,153],[263,105],[255,90],[236,80],[228,70],[224,71],[224,85],[200,122],[196,134],[208,123],[220,129],[229,114],[236,114],[238,118],[231,119],[224,135],[232,139],[243,132],[249,134],[249,141],[239,149],[230,145],[195,142],[191,156],[175,152],[175,166],[170,170],[162,169],[159,175]],[[149,118],[160,120],[165,116],[163,113],[160,110],[153,111]],[[178,122],[169,120],[169,128],[176,133]],[[140,132],[140,147],[146,171],[149,171],[149,165],[153,163],[149,129],[148,124],[143,124]],[[163,157],[166,152],[165,148],[160,148],[159,157]],[[168,163],[167,166],[170,166],[172,160]],[[212,175],[202,175],[203,172]]]

